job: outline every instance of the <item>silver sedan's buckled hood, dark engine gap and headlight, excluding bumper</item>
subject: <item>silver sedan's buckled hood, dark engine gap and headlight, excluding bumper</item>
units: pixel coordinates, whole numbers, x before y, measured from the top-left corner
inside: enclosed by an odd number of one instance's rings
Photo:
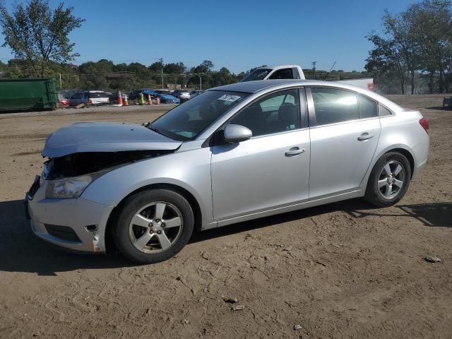
[[[42,156],[46,198],[78,198],[88,185],[118,167],[173,153],[181,145],[145,126],[77,123],[52,133]]]

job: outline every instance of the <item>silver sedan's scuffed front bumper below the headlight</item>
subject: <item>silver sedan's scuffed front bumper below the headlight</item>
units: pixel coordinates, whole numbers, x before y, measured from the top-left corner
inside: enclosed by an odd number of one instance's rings
[[[113,207],[83,198],[47,199],[46,186],[44,181],[34,195],[25,196],[25,213],[37,237],[73,251],[105,252],[105,228]]]

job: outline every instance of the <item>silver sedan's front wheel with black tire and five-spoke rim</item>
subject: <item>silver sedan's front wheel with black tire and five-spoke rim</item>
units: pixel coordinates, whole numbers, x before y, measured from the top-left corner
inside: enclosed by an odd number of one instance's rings
[[[157,263],[179,253],[193,228],[193,210],[183,196],[150,189],[126,198],[113,238],[121,254],[131,261]]]

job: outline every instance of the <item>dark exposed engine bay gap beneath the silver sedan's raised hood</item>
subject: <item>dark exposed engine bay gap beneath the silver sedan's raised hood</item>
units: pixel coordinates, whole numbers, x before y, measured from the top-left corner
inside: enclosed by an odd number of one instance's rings
[[[44,165],[44,177],[48,180],[78,177],[173,152],[174,150],[127,150],[73,153],[49,158]]]

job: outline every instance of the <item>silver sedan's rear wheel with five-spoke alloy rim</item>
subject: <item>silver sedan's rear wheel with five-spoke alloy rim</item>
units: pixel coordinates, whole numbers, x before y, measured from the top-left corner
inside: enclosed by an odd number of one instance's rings
[[[378,207],[393,206],[405,196],[410,180],[411,167],[405,155],[386,153],[372,169],[364,199]]]

